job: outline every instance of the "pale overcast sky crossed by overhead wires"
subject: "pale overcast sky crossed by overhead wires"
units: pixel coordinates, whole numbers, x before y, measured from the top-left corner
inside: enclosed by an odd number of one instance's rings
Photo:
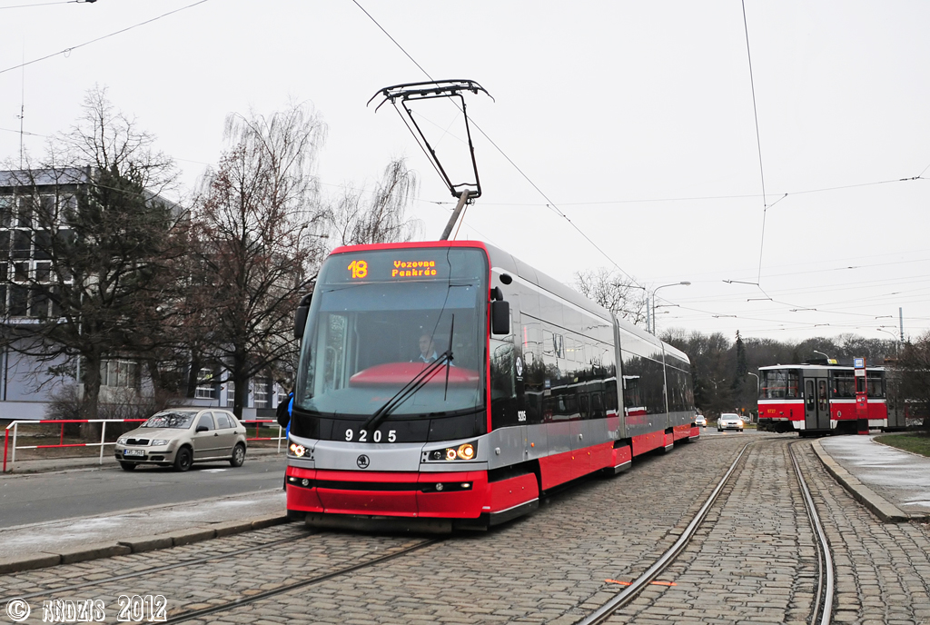
[[[19,158],[20,104],[39,156],[100,85],[190,188],[228,113],[305,101],[328,127],[325,193],[370,187],[405,155],[423,237],[442,232],[453,198],[393,110],[365,106],[427,77],[352,0],[7,8],[46,2],[0,0],[0,158]],[[930,3],[746,1],[764,246],[739,2],[359,4],[433,78],[494,97],[468,100],[484,195],[459,238],[566,283],[597,267],[650,289],[691,282],[658,292],[660,332],[892,339],[899,307],[905,335],[930,329],[930,181],[899,181],[930,178]],[[435,114],[424,123],[447,127],[452,153],[461,120]]]

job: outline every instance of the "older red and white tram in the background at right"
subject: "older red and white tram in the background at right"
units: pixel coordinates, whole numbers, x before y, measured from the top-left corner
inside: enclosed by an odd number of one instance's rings
[[[870,428],[889,423],[885,371],[866,368]],[[826,361],[759,367],[759,429],[767,432],[856,433],[856,375],[852,366]],[[893,416],[892,420],[895,420]]]

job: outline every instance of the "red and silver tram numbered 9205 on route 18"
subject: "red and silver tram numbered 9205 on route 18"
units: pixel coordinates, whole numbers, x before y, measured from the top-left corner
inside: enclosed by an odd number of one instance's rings
[[[496,525],[699,435],[683,352],[483,243],[339,247],[295,331],[287,511],[310,525]]]

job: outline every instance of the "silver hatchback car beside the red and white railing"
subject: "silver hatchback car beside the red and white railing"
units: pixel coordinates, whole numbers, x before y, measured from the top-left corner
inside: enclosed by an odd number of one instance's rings
[[[114,457],[125,471],[140,464],[172,466],[187,471],[194,462],[246,461],[246,426],[219,408],[162,410],[116,441]]]

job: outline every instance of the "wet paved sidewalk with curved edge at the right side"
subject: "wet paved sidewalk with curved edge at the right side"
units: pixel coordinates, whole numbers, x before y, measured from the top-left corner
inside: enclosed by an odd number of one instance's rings
[[[830,436],[814,451],[836,480],[886,523],[930,519],[930,458],[870,436]]]

